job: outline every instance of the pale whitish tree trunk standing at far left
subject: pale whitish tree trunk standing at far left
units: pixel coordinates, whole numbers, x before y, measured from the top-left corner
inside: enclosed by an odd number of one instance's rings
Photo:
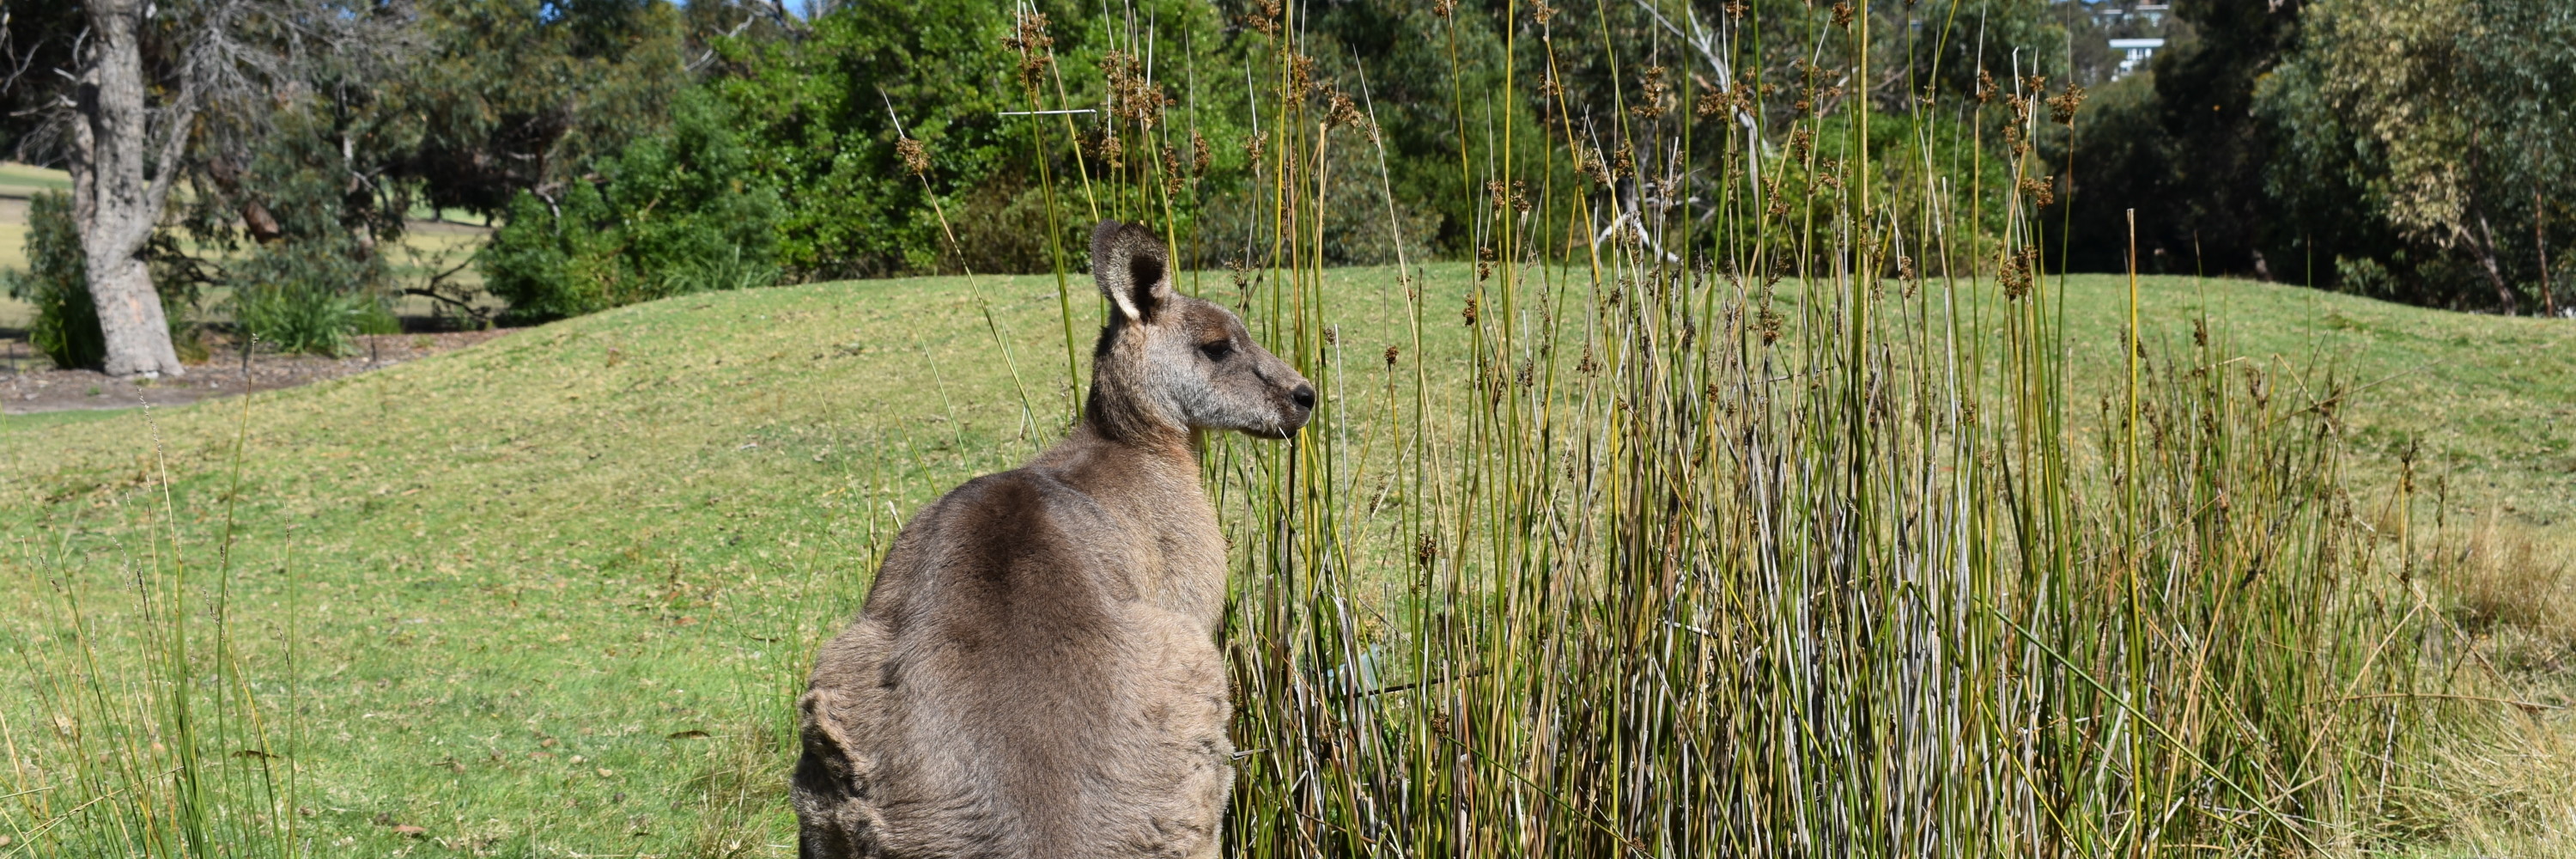
[[[142,0],[88,0],[90,44],[80,57],[80,93],[72,129],[72,217],[90,263],[90,299],[106,333],[111,377],[180,377],[170,348],[170,322],[142,250],[170,199],[193,93],[183,88],[162,119],[160,157],[152,160],[144,103]]]

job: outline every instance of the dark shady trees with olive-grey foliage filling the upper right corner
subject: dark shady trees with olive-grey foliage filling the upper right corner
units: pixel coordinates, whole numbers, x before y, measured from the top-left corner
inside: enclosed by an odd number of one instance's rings
[[[2208,0],[2099,88],[2071,147],[2063,261],[2316,284],[2398,302],[2550,302],[2576,191],[2576,10],[2548,0]],[[2563,258],[2563,255],[2561,255]],[[2558,268],[2563,261],[2548,261]]]

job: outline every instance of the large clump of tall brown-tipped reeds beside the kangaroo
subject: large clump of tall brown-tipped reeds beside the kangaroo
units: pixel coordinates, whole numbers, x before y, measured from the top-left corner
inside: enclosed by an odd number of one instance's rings
[[[1484,188],[1473,284],[1427,307],[1404,266],[1412,348],[1383,371],[1342,353],[1321,268],[1327,219],[1347,217],[1321,204],[1329,147],[1373,144],[1373,124],[1316,77],[1301,5],[1255,8],[1270,230],[1242,307],[1327,397],[1291,446],[1206,454],[1236,547],[1229,849],[2370,838],[2432,619],[2352,516],[2331,377],[2236,359],[2208,322],[2187,346],[2148,338],[2136,289],[2120,341],[2071,343],[2038,217],[2066,165],[2032,142],[2076,121],[2081,90],[2020,67],[1973,93],[1901,75],[1922,111],[1873,150],[1873,95],[1837,80],[1875,80],[1875,15],[1790,10],[1814,57],[1842,59],[1765,80],[1775,8],[1654,8],[1698,67],[1600,57],[1620,103],[1577,111],[1556,28],[1615,44],[1607,8],[1507,3],[1507,88],[1481,95],[1546,121],[1458,121],[1461,181]],[[1435,13],[1448,34],[1422,36],[1458,62],[1468,10]],[[1528,67],[1548,77],[1510,77]],[[1146,72],[1110,70],[1113,93],[1118,75]],[[1945,111],[1999,144],[1942,139],[1924,119]],[[1154,139],[1144,114],[1110,116]],[[1185,232],[1162,201],[1195,183],[1157,163],[1103,193],[1159,201],[1113,212]],[[1425,353],[1448,317],[1466,353]],[[2099,410],[2069,379],[2092,348],[2125,371]]]

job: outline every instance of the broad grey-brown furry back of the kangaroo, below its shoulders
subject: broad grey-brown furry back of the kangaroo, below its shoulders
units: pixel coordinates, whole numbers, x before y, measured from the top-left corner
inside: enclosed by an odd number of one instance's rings
[[[824,856],[1103,856],[1072,846],[1103,805],[1151,787],[1118,761],[1151,753],[1128,722],[1164,689],[1131,663],[1167,637],[1121,606],[1121,552],[1087,547],[1108,531],[1036,469],[979,477],[904,529],[804,699],[799,810],[873,841]],[[1221,740],[1221,720],[1190,727]]]

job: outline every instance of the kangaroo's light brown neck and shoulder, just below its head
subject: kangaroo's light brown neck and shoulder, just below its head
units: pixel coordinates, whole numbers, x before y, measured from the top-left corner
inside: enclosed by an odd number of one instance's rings
[[[1082,490],[1131,531],[1136,591],[1213,632],[1224,611],[1226,544],[1198,482],[1188,433],[1110,436],[1084,420],[1030,462]]]

